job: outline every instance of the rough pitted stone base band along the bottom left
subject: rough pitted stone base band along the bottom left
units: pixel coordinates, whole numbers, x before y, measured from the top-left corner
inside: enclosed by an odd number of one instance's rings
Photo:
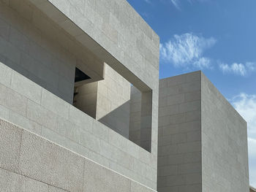
[[[0,141],[3,192],[154,191],[1,119]],[[9,153],[17,161],[2,158]]]

